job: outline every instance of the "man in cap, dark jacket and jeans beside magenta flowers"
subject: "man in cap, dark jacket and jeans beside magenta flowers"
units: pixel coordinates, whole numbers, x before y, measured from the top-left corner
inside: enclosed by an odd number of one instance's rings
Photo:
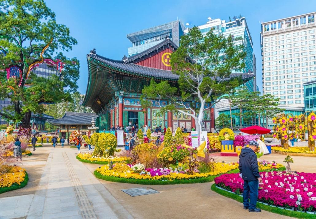
[[[259,175],[257,155],[255,153],[257,149],[258,143],[256,141],[250,141],[249,147],[243,148],[239,155],[239,172],[244,180],[244,209],[249,209],[249,212],[261,212],[261,210],[256,207],[258,181],[262,183],[262,179]]]

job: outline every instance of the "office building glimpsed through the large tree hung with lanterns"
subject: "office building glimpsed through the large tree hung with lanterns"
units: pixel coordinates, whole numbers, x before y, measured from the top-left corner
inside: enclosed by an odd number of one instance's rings
[[[52,74],[57,74],[56,69],[47,66],[46,63],[39,65],[37,68],[33,70],[38,77],[48,78]],[[12,105],[11,100],[9,98],[5,98],[4,100],[0,100],[0,111],[2,111],[5,107]],[[6,120],[0,116],[0,124],[7,124]]]

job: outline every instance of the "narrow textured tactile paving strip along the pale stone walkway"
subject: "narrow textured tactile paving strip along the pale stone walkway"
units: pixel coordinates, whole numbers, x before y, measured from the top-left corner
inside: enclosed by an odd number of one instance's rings
[[[67,154],[63,153],[63,157],[68,167],[68,175],[74,188],[82,217],[85,219],[99,219],[99,217],[95,213],[92,202],[88,198],[87,193],[84,191],[74,168],[70,164]]]

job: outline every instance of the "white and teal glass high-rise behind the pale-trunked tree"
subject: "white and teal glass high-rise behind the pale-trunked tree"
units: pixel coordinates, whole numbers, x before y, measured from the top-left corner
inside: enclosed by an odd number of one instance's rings
[[[199,25],[203,35],[206,35],[211,29],[213,29],[216,34],[223,34],[223,36],[228,37],[230,34],[234,36],[235,45],[244,45],[245,51],[247,53],[244,62],[246,64],[245,68],[241,72],[233,73],[253,73],[256,75],[256,57],[253,53],[253,43],[249,28],[247,26],[246,18],[241,17],[234,21],[226,22],[221,19],[211,19],[206,24]],[[189,29],[185,29],[184,33],[187,34]],[[248,81],[246,87],[249,91],[256,91],[256,78]]]

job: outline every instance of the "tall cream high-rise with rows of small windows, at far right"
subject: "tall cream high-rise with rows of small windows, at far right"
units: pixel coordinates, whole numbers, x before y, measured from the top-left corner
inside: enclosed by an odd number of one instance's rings
[[[261,24],[263,93],[281,106],[304,107],[303,84],[316,79],[315,14]]]

